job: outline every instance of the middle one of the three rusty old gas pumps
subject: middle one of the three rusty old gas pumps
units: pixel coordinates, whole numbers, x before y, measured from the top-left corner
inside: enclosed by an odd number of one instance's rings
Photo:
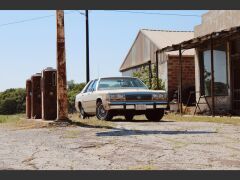
[[[36,73],[31,77],[32,98],[31,98],[31,116],[32,119],[42,118],[42,100],[41,100],[41,73]]]

